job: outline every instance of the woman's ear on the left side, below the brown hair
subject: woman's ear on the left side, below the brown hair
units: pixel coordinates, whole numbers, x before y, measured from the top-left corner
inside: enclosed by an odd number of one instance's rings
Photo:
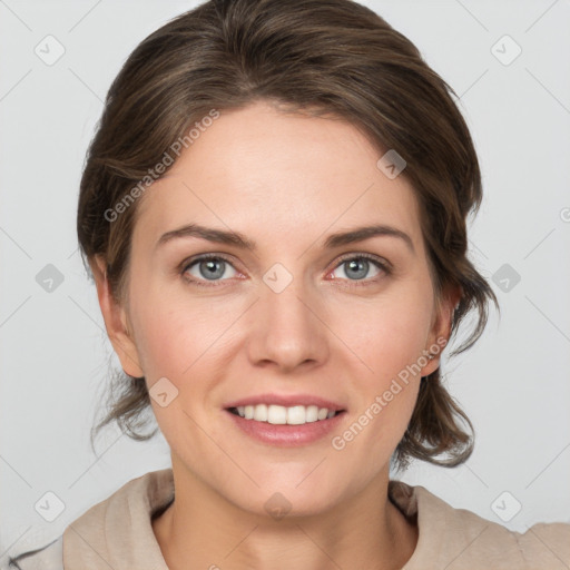
[[[95,257],[95,263],[89,265],[97,286],[97,297],[99,298],[105,328],[107,328],[107,335],[119,357],[122,370],[130,376],[141,377],[145,374],[140,367],[137,346],[131,333],[128,332],[127,313],[111,295],[105,259],[98,255]]]

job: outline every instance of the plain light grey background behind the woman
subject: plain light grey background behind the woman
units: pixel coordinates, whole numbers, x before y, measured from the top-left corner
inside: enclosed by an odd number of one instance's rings
[[[454,470],[415,463],[402,479],[513,530],[570,522],[570,2],[362,3],[461,97],[485,189],[472,258],[494,275],[502,307],[475,347],[443,364],[476,430],[472,458]],[[0,562],[58,537],[130,479],[169,466],[161,435],[136,443],[110,429],[97,456],[89,448],[118,361],[75,215],[111,80],[139,41],[194,6],[0,1]],[[35,52],[47,52],[48,35],[65,48],[51,66]],[[515,53],[510,40],[492,51],[504,35],[522,49],[509,65],[495,56]],[[49,264],[62,279],[51,292]],[[49,491],[65,503],[52,522],[35,509]]]

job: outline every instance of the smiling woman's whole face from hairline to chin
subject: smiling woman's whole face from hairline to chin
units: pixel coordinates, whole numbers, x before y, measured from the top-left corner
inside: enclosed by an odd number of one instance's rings
[[[380,158],[345,121],[257,102],[222,111],[139,198],[114,308],[132,343],[114,342],[179,480],[292,514],[385,484],[451,308],[434,303],[413,190]],[[249,245],[214,239],[230,233]],[[338,413],[314,421],[322,409]]]

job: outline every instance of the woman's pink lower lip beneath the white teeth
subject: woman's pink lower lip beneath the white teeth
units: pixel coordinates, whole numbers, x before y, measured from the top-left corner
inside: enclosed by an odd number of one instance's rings
[[[225,412],[230,416],[238,429],[254,440],[283,448],[306,445],[323,439],[338,426],[338,423],[342,422],[345,414],[345,412],[341,412],[327,420],[318,420],[301,425],[288,425],[256,422],[255,420],[246,420],[228,410],[225,410]]]

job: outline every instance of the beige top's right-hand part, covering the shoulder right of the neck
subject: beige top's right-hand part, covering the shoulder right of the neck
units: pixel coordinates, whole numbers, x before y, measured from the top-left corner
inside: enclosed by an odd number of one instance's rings
[[[423,487],[391,481],[390,494],[405,515],[415,518],[419,528],[416,549],[404,570],[570,568],[569,523],[537,523],[520,533],[455,509]]]

